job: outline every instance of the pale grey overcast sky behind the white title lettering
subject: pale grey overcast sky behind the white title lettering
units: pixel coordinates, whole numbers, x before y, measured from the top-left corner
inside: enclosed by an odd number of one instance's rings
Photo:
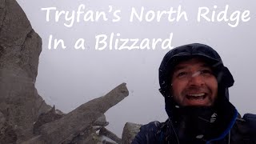
[[[232,2],[222,0],[193,2],[18,0],[18,3],[25,11],[34,30],[42,38],[42,53],[36,82],[38,93],[48,104],[55,105],[65,113],[126,82],[130,91],[129,97],[106,112],[110,130],[121,136],[126,122],[146,124],[154,120],[160,122],[166,120],[164,99],[158,92],[158,67],[168,50],[162,50],[161,45],[157,45],[155,50],[110,50],[109,46],[105,50],[95,50],[95,36],[106,34],[109,41],[111,33],[114,34],[113,42],[116,42],[115,38],[138,38],[139,40],[162,38],[164,40],[173,34],[171,46],[202,42],[214,47],[234,76],[235,83],[230,88],[230,101],[241,114],[256,113],[254,84],[256,80],[254,71],[256,70],[256,10],[253,0],[246,2],[238,0]],[[82,9],[80,22],[74,19],[72,24],[71,21],[65,20],[63,14],[58,22],[55,22],[56,10],[69,11],[70,14],[74,10],[75,18],[78,18],[76,14],[81,5],[85,7]],[[130,22],[132,8],[134,7],[134,10],[139,13],[142,6],[145,9],[144,15],[152,10],[148,16],[153,14],[153,11],[169,11],[171,7],[177,11],[180,6],[181,10],[186,12],[187,21],[183,16],[178,22],[169,22],[168,15],[163,15],[160,22],[157,22],[157,19],[146,22],[145,18],[142,22],[138,22],[137,19]],[[225,10],[226,6],[228,7],[227,22],[217,22],[218,13]],[[49,7],[55,7],[56,10],[50,10],[49,22],[47,22],[46,10],[42,8]],[[214,22],[207,22],[203,18],[198,22],[199,7],[205,7],[202,10],[209,8],[210,14],[214,11]],[[95,22],[94,17],[94,22],[83,21],[84,15],[89,14],[89,10],[94,12],[94,16],[96,11],[104,11],[108,20],[104,21],[100,18]],[[246,17],[246,10],[250,11],[250,20]],[[121,18],[120,20],[114,17],[114,12]],[[207,17],[211,19],[210,14]],[[232,14],[233,17],[230,18]],[[242,19],[242,15],[246,18]],[[176,18],[177,13],[172,16]],[[120,36],[117,36],[118,33]],[[49,50],[50,35],[53,39],[62,39],[66,49],[62,49],[59,45],[54,50],[53,40],[52,49]],[[74,43],[79,38],[85,40],[85,50],[74,49]]]

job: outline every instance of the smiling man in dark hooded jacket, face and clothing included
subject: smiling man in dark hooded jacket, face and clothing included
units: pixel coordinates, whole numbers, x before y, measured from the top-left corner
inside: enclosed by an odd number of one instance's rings
[[[166,122],[142,126],[136,143],[256,143],[256,116],[229,102],[234,79],[210,46],[190,44],[170,50],[159,68]]]

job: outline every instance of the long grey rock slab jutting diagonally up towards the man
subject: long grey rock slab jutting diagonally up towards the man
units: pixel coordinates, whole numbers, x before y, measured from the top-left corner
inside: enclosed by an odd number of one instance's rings
[[[41,127],[40,137],[33,142],[74,143],[80,139],[82,143],[87,143],[82,138],[89,138],[90,134],[96,132],[93,126],[100,126],[98,123],[103,123],[102,126],[104,126],[106,122],[98,122],[98,119],[102,118],[106,110],[122,101],[128,94],[126,84],[122,83],[105,96],[86,102],[62,118],[46,123]]]

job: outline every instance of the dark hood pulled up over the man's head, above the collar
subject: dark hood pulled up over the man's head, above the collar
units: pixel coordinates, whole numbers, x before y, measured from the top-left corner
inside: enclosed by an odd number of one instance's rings
[[[222,58],[219,54],[210,46],[200,43],[178,46],[165,55],[159,67],[159,91],[166,99],[166,112],[169,117],[172,109],[177,105],[170,94],[170,75],[178,62],[194,57],[203,58],[206,63],[213,67],[214,74],[218,80],[218,97],[225,97],[218,99],[229,100],[228,88],[233,86],[234,78],[230,74],[230,70],[223,65]]]

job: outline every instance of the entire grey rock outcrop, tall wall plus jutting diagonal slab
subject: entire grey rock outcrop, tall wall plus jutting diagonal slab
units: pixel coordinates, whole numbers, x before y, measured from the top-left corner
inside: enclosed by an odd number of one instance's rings
[[[128,96],[126,83],[62,114],[34,87],[41,50],[18,3],[0,0],[0,143],[121,143],[104,113]]]

